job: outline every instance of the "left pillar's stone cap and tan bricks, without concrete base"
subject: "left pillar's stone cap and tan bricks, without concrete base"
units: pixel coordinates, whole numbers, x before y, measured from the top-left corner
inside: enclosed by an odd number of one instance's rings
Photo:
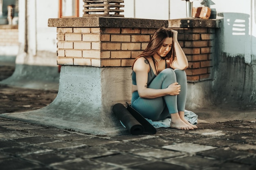
[[[49,19],[49,26],[57,27],[58,65],[131,66],[133,59],[146,48],[150,35],[167,23],[163,20],[128,18],[72,18],[73,20],[78,24],[67,27],[61,23],[71,22],[71,18]],[[96,22],[100,23],[97,27],[90,24]],[[115,24],[117,22],[118,25]],[[133,24],[127,24],[129,22]],[[147,26],[147,22],[153,24]],[[157,25],[157,22],[160,24]],[[88,25],[85,26],[84,23]],[[113,24],[109,25],[110,23]]]

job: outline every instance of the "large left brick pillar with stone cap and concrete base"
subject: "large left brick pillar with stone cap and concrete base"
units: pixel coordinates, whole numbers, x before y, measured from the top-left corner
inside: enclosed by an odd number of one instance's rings
[[[46,108],[61,121],[52,124],[62,126],[65,119],[69,122],[65,126],[82,132],[122,133],[112,106],[130,103],[130,66],[155,30],[167,25],[165,20],[132,18],[49,19],[48,26],[57,27],[57,64],[61,65],[58,95]]]

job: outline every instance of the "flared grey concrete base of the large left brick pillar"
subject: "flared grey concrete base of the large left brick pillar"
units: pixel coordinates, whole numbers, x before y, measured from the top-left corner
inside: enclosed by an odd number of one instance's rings
[[[130,67],[62,66],[58,95],[51,104],[0,116],[94,135],[123,135],[127,131],[112,106],[130,98]]]

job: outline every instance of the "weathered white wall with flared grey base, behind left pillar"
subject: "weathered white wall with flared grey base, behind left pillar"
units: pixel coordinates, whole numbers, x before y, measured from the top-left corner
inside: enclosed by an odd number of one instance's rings
[[[45,8],[52,13],[45,12]],[[56,29],[47,27],[57,17],[58,2],[19,1],[18,53],[13,75],[2,84],[28,88],[58,89]]]

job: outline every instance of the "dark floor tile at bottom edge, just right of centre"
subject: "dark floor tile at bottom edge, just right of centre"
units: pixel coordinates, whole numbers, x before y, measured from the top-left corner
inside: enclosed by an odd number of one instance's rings
[[[129,168],[134,170],[188,170],[187,168],[180,165],[174,165],[171,163],[160,162],[160,161],[144,163],[142,165],[136,165],[136,166],[129,166]]]

